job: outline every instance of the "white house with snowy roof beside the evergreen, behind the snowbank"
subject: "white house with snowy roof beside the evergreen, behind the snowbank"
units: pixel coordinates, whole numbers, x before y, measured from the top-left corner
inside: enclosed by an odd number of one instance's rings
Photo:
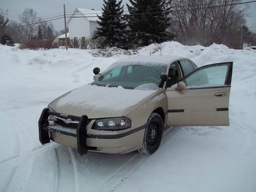
[[[69,38],[71,39],[83,39],[90,38],[96,27],[98,15],[101,15],[101,11],[95,11],[92,9],[76,8],[73,14],[68,19]],[[67,15],[69,17],[69,15]]]

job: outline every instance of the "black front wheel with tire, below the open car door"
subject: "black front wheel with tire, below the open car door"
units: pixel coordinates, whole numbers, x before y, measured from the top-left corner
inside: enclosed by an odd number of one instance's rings
[[[162,118],[158,113],[152,113],[146,123],[141,153],[146,155],[155,153],[161,143],[162,135]]]

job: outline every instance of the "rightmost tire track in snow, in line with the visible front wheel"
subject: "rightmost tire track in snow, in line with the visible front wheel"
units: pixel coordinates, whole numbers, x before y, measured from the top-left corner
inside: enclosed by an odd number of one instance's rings
[[[164,130],[160,146],[163,145],[170,137],[175,135],[180,129],[181,127],[166,128]],[[136,154],[127,163],[110,175],[108,179],[100,183],[93,191],[114,191],[117,186],[119,186],[127,177],[129,177],[149,157],[150,155],[140,155],[139,153]]]

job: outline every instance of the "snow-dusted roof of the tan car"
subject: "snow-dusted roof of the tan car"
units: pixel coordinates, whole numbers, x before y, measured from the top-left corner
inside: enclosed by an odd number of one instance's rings
[[[188,58],[182,57],[182,56],[134,56],[134,57],[127,57],[120,60],[117,60],[116,62],[151,62],[151,63],[165,63],[165,64],[171,64],[177,60],[190,60]]]

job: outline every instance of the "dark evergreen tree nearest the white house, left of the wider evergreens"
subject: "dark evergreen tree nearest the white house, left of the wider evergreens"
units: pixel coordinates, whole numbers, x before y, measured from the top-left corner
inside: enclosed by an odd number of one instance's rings
[[[126,32],[125,22],[122,18],[122,1],[104,0],[102,16],[98,16],[99,28],[95,31],[93,39],[103,38],[103,47],[124,47],[124,34]]]

